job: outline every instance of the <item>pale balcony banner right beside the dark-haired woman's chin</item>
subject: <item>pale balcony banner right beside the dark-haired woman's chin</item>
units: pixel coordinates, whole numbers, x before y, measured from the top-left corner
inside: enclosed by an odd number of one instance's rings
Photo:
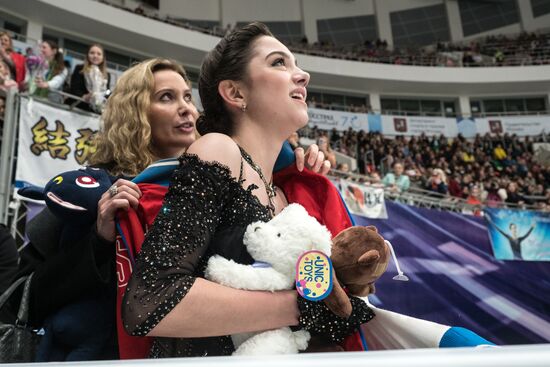
[[[344,111],[322,110],[320,108],[309,108],[309,125],[317,126],[319,129],[339,131],[353,130],[369,131],[369,119],[366,113],[354,113]]]

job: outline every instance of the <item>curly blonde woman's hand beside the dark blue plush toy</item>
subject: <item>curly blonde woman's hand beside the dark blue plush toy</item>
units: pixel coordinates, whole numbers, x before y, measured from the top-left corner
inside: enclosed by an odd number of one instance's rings
[[[113,189],[116,187],[116,189]],[[117,210],[137,208],[141,190],[128,180],[117,180],[107,190],[97,204],[97,234],[103,239],[113,242],[116,238],[115,214]]]

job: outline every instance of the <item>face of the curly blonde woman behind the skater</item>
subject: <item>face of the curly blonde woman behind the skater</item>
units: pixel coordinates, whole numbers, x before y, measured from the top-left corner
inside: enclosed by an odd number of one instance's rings
[[[149,107],[151,139],[159,159],[174,158],[195,141],[199,113],[192,101],[191,88],[172,70],[154,74],[155,86]]]

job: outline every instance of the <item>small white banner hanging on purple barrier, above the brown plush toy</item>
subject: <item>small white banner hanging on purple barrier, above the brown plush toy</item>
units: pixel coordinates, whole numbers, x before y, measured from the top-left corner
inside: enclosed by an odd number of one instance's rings
[[[387,219],[384,189],[340,180],[342,197],[349,211],[367,218]]]

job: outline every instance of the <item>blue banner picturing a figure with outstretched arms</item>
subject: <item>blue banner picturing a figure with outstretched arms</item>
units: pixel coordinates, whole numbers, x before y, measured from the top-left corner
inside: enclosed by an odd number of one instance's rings
[[[550,261],[550,213],[487,209],[485,215],[497,259]]]

